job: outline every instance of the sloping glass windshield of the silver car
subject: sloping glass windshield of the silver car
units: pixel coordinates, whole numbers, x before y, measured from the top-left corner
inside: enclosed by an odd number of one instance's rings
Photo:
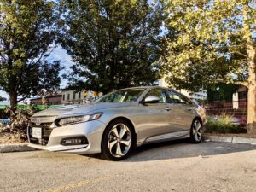
[[[102,96],[96,102],[136,102],[144,90],[143,88],[115,90],[106,96]]]

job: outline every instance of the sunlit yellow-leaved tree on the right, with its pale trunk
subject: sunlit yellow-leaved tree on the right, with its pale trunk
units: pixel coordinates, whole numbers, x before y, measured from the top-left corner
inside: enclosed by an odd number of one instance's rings
[[[166,79],[189,90],[243,80],[248,128],[256,131],[255,1],[172,0],[165,5],[166,28],[176,31],[162,60]]]

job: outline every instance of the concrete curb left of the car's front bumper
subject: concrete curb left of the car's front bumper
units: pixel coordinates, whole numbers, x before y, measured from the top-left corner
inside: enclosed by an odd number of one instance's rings
[[[0,153],[34,151],[35,148],[27,146],[28,143],[0,144]]]

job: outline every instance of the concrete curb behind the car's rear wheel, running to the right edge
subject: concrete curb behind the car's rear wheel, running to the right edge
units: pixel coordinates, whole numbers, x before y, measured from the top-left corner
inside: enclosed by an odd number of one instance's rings
[[[220,136],[203,136],[204,141],[224,142],[224,143],[238,143],[238,144],[252,144],[256,145],[256,138],[246,137],[220,137]]]

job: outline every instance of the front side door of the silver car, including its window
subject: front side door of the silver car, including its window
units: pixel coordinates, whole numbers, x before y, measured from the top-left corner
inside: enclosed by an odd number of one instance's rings
[[[143,97],[145,100],[148,96],[157,96],[160,101],[157,103],[139,104],[139,137],[148,138],[153,136],[160,136],[172,131],[172,113],[166,102],[166,90],[161,88],[154,88],[149,90]]]

